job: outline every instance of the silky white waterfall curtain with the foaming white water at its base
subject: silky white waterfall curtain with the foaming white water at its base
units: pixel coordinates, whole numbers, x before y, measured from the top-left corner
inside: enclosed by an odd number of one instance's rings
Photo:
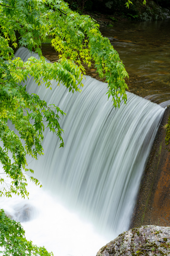
[[[20,48],[16,56],[26,61],[30,53]],[[115,110],[107,101],[106,84],[88,76],[81,94],[72,95],[55,81],[50,91],[29,79],[27,89],[67,113],[60,121],[65,147],[58,148],[56,136],[46,131],[44,156],[29,164],[45,191],[52,194],[29,185],[29,204],[37,213],[23,223],[27,237],[43,243],[54,255],[94,255],[128,228],[164,109],[127,93],[127,105]],[[14,197],[2,202],[15,219],[19,219],[21,205],[25,207],[19,200]]]

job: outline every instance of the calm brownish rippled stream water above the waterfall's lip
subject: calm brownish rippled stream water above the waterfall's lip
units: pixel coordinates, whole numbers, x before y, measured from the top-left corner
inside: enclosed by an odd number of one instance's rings
[[[128,83],[132,82],[134,92],[135,87],[136,92],[142,90],[137,83],[143,81],[145,96],[159,94],[161,101],[170,99],[167,94],[170,92],[170,19],[117,22],[111,29],[101,28],[101,33],[110,39],[125,68],[132,74]],[[132,78],[136,82],[131,81]]]

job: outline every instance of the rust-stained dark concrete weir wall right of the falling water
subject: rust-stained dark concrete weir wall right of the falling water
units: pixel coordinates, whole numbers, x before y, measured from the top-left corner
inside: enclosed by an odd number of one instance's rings
[[[166,108],[143,173],[130,228],[140,225],[170,226],[170,152],[165,149]]]

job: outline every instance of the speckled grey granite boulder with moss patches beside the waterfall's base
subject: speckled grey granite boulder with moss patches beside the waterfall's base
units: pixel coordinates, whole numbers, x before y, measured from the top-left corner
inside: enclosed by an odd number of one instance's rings
[[[168,256],[170,227],[142,226],[123,232],[103,246],[96,256]]]

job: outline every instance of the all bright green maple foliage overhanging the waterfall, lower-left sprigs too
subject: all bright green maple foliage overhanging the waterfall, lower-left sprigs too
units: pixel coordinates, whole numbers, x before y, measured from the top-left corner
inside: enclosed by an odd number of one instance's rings
[[[53,37],[52,46],[59,53],[59,61],[47,63],[42,56],[41,40],[45,42],[47,36]],[[34,50],[39,59],[12,59],[13,49],[18,46]],[[112,97],[115,108],[120,107],[120,101],[127,100],[124,78],[128,74],[93,19],[71,11],[61,0],[0,0],[0,163],[6,174],[6,178],[0,177],[1,196],[28,196],[24,173],[33,170],[27,168],[26,155],[37,159],[43,154],[41,143],[46,127],[59,137],[60,147],[64,146],[59,118],[65,113],[56,105],[47,105],[38,95],[29,94],[22,83],[27,77],[34,77],[37,85],[44,82],[48,88],[54,79],[72,93],[80,92],[82,73],[85,74],[82,64],[90,67],[92,60],[100,77],[106,78],[108,98]],[[17,133],[9,129],[9,121]],[[39,184],[33,176],[30,179]],[[3,255],[52,255],[27,241],[21,225],[7,218],[3,210],[0,232]]]

